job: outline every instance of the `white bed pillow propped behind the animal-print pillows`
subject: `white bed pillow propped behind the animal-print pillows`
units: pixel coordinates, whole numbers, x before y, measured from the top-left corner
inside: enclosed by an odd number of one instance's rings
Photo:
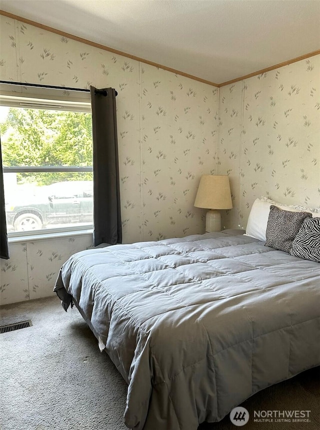
[[[311,209],[303,206],[283,205],[262,196],[261,199],[256,199],[252,204],[245,230],[246,236],[254,237],[262,242],[266,241],[265,231],[271,205],[291,212],[311,212],[312,217],[319,216],[319,213],[316,212],[319,208]]]

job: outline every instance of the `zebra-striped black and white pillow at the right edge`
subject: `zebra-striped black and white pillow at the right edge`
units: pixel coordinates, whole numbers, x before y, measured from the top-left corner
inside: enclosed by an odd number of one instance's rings
[[[306,218],[292,242],[290,254],[320,263],[320,218]]]

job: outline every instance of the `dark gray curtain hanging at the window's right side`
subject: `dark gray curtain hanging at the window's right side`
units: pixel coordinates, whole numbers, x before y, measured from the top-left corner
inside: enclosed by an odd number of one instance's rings
[[[122,242],[116,109],[113,88],[90,87],[93,139],[93,242]]]

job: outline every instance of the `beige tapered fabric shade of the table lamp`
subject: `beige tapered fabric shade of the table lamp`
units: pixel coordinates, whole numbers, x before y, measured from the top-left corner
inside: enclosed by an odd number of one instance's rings
[[[231,209],[229,177],[227,175],[202,175],[194,206],[205,209]]]

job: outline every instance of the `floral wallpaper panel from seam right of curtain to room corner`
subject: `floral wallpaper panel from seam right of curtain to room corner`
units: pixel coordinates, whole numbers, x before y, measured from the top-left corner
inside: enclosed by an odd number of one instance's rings
[[[141,65],[142,240],[203,232],[193,207],[202,173],[213,173],[218,89]]]

